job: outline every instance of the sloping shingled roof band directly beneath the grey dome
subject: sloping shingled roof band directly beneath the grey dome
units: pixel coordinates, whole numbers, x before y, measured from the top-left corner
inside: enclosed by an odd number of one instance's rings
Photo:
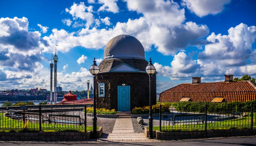
[[[144,59],[135,59],[135,58],[125,58],[125,59],[106,59],[99,64],[100,73],[102,72],[109,72],[111,68],[116,67],[122,63],[126,63],[133,68],[138,69],[139,71],[146,72],[146,67],[148,62]]]

